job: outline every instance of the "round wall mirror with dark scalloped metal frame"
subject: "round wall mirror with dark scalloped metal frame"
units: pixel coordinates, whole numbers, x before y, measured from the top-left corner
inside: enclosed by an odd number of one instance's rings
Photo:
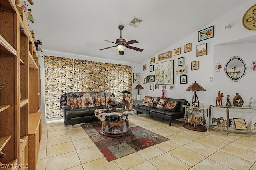
[[[239,81],[246,73],[246,64],[238,57],[231,57],[225,65],[225,73],[232,81]]]

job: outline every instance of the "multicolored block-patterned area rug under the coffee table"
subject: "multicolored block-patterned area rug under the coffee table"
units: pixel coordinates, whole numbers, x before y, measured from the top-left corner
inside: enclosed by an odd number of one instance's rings
[[[101,122],[90,122],[81,126],[108,161],[169,140],[133,123],[129,124],[132,129],[131,134],[114,138],[99,133],[100,128],[102,128]]]

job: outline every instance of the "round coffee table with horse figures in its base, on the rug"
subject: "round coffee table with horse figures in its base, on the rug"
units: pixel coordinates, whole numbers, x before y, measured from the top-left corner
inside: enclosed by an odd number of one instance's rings
[[[129,127],[128,116],[136,113],[134,109],[116,109],[107,111],[106,109],[96,109],[94,115],[102,122],[99,133],[108,137],[126,136],[132,132]]]

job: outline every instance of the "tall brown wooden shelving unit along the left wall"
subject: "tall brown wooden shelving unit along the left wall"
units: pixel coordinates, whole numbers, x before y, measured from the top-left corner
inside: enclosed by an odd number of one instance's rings
[[[34,124],[42,125],[38,54],[24,12],[19,13],[15,1],[1,1],[0,8],[0,82],[5,83],[0,89],[0,150],[6,154],[0,161],[35,169],[42,128],[31,141],[29,131]],[[32,157],[29,150],[37,153]]]

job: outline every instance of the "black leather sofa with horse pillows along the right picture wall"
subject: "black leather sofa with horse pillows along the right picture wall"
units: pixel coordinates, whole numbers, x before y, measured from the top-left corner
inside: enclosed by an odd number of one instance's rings
[[[169,120],[171,126],[173,119],[184,117],[185,108],[182,105],[188,103],[185,99],[172,99],[146,96],[143,99],[142,105],[135,107],[137,115],[139,113],[147,113],[153,116],[161,117]]]

